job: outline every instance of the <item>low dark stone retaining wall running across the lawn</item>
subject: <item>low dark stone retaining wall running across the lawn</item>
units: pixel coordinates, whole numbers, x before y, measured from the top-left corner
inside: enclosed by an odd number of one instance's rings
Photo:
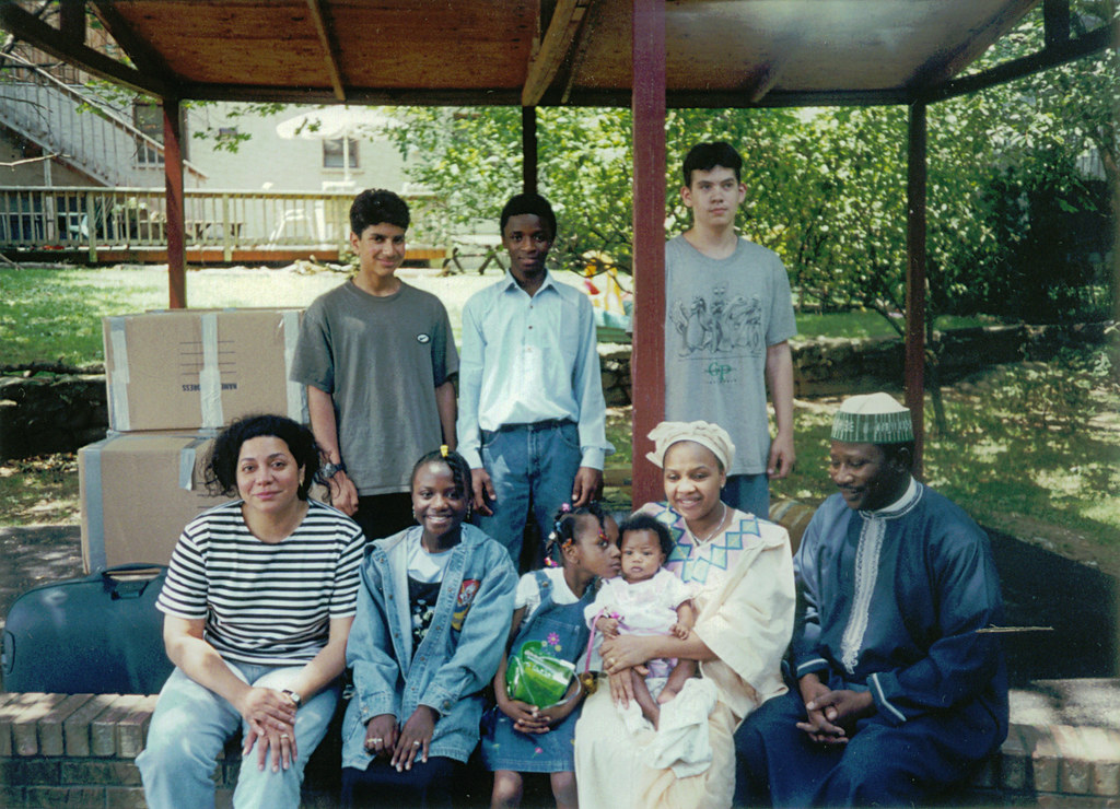
[[[1020,359],[1048,359],[1064,346],[1102,345],[1108,323],[956,329],[940,336],[942,379]],[[795,342],[794,394],[800,397],[897,388],[904,346],[896,338]],[[629,349],[604,351],[603,391],[610,407],[631,404]],[[66,452],[97,441],[109,423],[105,378],[97,375],[0,377],[0,459]]]

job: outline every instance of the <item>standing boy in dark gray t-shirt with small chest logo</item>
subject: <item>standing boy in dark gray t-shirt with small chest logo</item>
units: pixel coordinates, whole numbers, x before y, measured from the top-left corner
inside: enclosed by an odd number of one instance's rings
[[[414,523],[416,459],[440,444],[455,449],[459,357],[444,304],[395,275],[404,200],[362,191],[349,219],[357,274],[308,308],[291,379],[307,385],[332,502],[376,539]]]

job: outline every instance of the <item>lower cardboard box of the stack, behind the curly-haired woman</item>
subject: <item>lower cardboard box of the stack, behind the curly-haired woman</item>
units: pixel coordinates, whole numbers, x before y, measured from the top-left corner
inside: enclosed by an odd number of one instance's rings
[[[166,565],[183,527],[232,499],[206,493],[204,434],[113,434],[78,450],[86,573],[143,562]]]

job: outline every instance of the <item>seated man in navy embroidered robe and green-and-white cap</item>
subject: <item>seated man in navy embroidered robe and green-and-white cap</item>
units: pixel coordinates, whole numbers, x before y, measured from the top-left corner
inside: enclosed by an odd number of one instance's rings
[[[909,411],[852,396],[794,558],[796,684],[736,733],[738,805],[913,806],[1007,735],[1002,615],[988,537],[911,474]]]

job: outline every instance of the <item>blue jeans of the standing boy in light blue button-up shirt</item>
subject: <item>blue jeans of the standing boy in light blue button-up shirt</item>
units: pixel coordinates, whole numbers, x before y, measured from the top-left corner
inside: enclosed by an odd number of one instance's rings
[[[582,453],[572,422],[540,422],[483,431],[483,467],[494,483],[494,515],[478,515],[475,525],[521,558],[525,523],[532,508],[541,538],[552,533],[560,504],[571,500],[571,488]]]

